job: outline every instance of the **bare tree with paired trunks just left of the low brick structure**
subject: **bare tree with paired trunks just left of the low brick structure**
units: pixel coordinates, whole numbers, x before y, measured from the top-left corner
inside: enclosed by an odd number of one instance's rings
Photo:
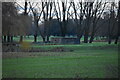
[[[50,29],[51,20],[52,20],[52,9],[53,9],[53,2],[50,2],[50,1],[42,2],[44,31],[43,31],[43,35],[41,36],[43,38],[43,42],[49,42],[49,37],[50,37],[49,29]]]

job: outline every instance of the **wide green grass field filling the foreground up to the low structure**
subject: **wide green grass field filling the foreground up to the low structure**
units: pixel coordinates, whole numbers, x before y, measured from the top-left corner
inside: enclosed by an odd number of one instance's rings
[[[106,42],[80,45],[37,45],[72,52],[19,52],[3,58],[4,78],[117,78],[118,45]]]

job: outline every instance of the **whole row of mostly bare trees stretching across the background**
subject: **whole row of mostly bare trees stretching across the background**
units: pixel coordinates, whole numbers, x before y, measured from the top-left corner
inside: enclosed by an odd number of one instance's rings
[[[15,5],[23,9],[22,15],[18,15],[21,10],[17,11]],[[38,35],[42,36],[44,42],[49,42],[51,35],[62,37],[75,35],[78,40],[84,36],[84,43],[92,43],[95,36],[108,37],[109,44],[113,37],[115,44],[119,39],[120,2],[116,4],[99,0],[78,3],[25,0],[24,6],[17,2],[3,3],[2,6],[4,41],[6,36],[9,41],[14,35],[21,36],[20,41],[23,40],[23,35],[34,35],[34,42],[37,42]],[[31,23],[32,26],[30,26]]]

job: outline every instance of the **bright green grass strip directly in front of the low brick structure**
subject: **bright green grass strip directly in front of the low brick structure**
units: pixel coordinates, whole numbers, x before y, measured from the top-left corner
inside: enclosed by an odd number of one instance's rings
[[[40,48],[40,49],[52,49],[55,47],[64,47],[64,48],[68,48],[68,49],[73,49],[75,51],[81,51],[81,50],[94,50],[94,49],[114,49],[118,47],[118,45],[116,44],[111,44],[109,45],[107,42],[93,42],[91,43],[81,43],[80,45],[74,45],[74,44],[66,44],[66,45],[39,45],[39,44],[32,44],[31,47],[33,48]]]

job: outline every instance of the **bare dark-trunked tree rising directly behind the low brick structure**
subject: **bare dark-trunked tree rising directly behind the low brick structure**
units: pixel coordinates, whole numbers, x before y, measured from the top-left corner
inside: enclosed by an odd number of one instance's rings
[[[54,2],[54,7],[55,7],[54,12],[56,13],[55,16],[57,17],[57,19],[59,21],[59,25],[61,27],[61,36],[62,37],[65,37],[66,30],[67,30],[66,25],[67,25],[68,16],[66,17],[66,15],[68,14],[68,11],[69,11],[69,9],[67,10],[67,4],[68,4],[67,0],[62,1],[61,2],[62,7],[60,7],[59,1],[57,2],[57,5]],[[56,6],[58,6],[58,10],[57,10]]]

